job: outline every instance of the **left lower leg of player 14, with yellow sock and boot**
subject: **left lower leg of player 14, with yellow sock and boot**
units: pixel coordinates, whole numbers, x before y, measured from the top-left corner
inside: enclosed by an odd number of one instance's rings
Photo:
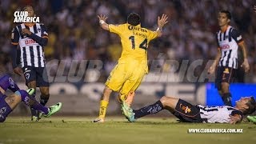
[[[104,122],[105,116],[106,116],[106,108],[110,101],[110,94],[113,90],[111,90],[109,87],[105,87],[102,95],[102,100],[100,102],[100,108],[99,108],[99,114],[98,118],[94,119],[94,122]]]

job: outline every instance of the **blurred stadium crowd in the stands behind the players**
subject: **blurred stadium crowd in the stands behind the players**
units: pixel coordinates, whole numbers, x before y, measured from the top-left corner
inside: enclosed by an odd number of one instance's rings
[[[218,11],[230,10],[231,26],[241,31],[249,54],[250,73],[246,82],[256,82],[256,14],[250,0],[22,0],[0,4],[0,73],[13,74],[10,62],[10,34],[15,26],[14,11],[31,4],[40,21],[46,25],[49,42],[46,62],[66,61],[66,73],[72,60],[102,60],[102,82],[110,73],[122,51],[119,38],[98,25],[97,14],[106,14],[109,23],[126,22],[130,12],[141,14],[142,26],[156,30],[160,14],[170,16],[164,36],[150,44],[150,61],[170,59],[203,59],[206,63],[217,53],[215,33]],[[150,64],[150,62],[149,62]],[[163,66],[166,67],[166,66]],[[168,67],[168,66],[167,66]],[[199,70],[205,67],[202,66]],[[168,70],[166,70],[168,71]],[[14,78],[18,78],[17,76]],[[20,79],[21,80],[21,79]],[[101,81],[101,80],[99,80]]]

